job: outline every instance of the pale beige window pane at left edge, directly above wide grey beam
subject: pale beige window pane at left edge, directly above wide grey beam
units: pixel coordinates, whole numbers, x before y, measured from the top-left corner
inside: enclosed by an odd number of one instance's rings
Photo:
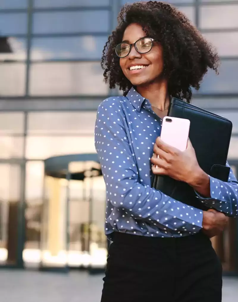
[[[26,66],[23,63],[0,63],[1,95],[24,95]]]

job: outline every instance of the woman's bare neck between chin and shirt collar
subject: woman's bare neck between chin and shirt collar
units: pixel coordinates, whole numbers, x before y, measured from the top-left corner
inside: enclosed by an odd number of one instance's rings
[[[165,110],[169,106],[168,83],[166,80],[147,85],[139,85],[136,90],[150,101],[151,106]]]

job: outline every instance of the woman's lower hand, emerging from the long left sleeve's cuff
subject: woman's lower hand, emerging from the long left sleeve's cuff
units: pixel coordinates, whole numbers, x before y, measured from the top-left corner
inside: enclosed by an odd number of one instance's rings
[[[214,209],[203,211],[202,232],[209,238],[219,235],[224,231],[229,218]]]

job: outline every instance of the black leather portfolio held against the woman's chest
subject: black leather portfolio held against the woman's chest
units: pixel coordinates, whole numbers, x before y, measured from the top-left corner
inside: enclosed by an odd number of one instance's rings
[[[227,182],[230,173],[226,161],[232,131],[231,121],[176,98],[171,100],[168,116],[190,120],[189,138],[200,167],[212,177]],[[198,202],[193,188],[185,182],[155,175],[152,187],[185,204],[207,210]]]

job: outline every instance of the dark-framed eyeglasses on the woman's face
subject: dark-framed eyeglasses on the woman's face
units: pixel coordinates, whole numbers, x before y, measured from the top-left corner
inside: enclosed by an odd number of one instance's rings
[[[119,58],[125,58],[130,53],[131,47],[134,46],[138,53],[148,53],[153,47],[153,42],[153,38],[141,38],[132,44],[122,42],[117,44],[115,52]]]

